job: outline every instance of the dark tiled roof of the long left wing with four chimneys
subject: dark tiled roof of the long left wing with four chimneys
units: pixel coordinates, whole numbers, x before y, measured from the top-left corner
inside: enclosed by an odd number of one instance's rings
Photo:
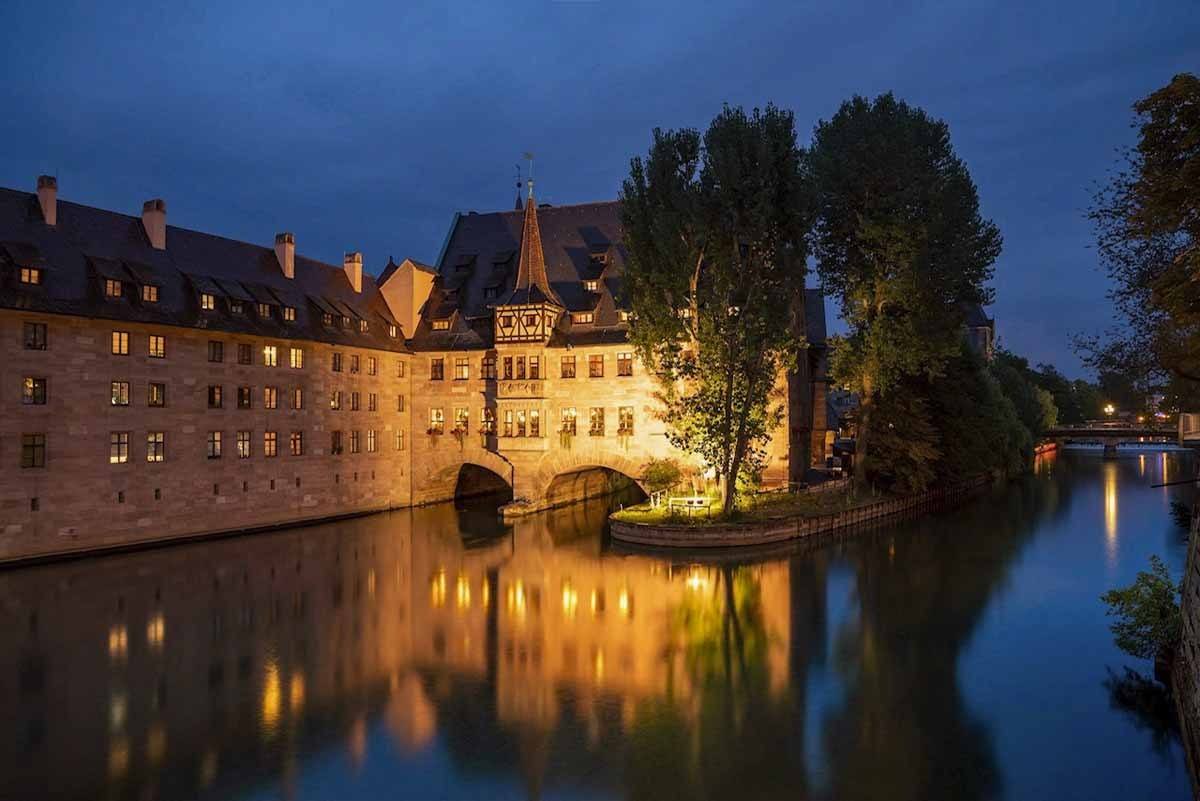
[[[362,276],[362,293],[350,287],[341,266],[296,254],[295,278],[280,270],[272,247],[167,228],[167,248],[146,240],[142,218],[59,200],[58,224],[42,222],[37,197],[0,188],[0,307],[77,314],[102,319],[156,323],[251,333],[281,339],[312,339],[364,348],[403,350],[388,336],[395,323],[377,282]],[[46,270],[42,287],[18,282],[18,265],[37,260]],[[103,296],[103,278],[125,282],[125,296]],[[158,302],[143,303],[140,284],[158,287]],[[245,314],[228,307],[202,312],[199,293],[246,302]],[[262,319],[253,303],[276,306]],[[295,308],[284,323],[280,306]],[[334,311],[352,319],[353,327],[323,325]],[[359,320],[367,333],[359,332]]]

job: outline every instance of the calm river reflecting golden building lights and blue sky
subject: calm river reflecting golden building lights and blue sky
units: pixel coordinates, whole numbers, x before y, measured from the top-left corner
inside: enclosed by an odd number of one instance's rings
[[[1187,799],[1099,595],[1190,458],[731,561],[473,502],[7,570],[0,799]]]

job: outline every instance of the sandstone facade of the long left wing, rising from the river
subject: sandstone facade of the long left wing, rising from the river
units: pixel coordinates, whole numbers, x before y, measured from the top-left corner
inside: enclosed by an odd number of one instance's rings
[[[25,321],[47,325],[46,350],[24,348]],[[128,332],[128,355],[112,354],[113,330]],[[166,337],[163,359],[149,356],[151,335]],[[210,341],[222,343],[221,362],[209,361]],[[252,363],[239,363],[239,344],[251,345]],[[276,348],[275,367],[264,365],[268,345]],[[300,368],[290,367],[293,347],[302,350]],[[331,369],[334,353],[342,356],[342,372]],[[356,373],[352,357],[359,360]],[[0,561],[407,506],[408,359],[314,342],[2,312]],[[44,405],[23,403],[25,377],[47,380]],[[128,383],[128,405],[113,404],[113,381]],[[164,385],[163,406],[148,405],[150,383]],[[222,386],[222,408],[209,408],[209,385]],[[250,387],[250,409],[238,408],[239,386]],[[264,408],[264,387],[276,389],[275,409]],[[298,387],[302,405],[294,409]],[[335,391],[342,392],[340,410],[331,409]],[[406,398],[403,412],[398,396]],[[335,429],[343,432],[341,454],[330,453]],[[221,458],[208,457],[211,430],[222,433]],[[238,456],[241,430],[251,433],[248,458]],[[124,463],[110,463],[113,432],[128,433]],[[164,434],[162,462],[148,460],[150,432]],[[265,454],[265,432],[276,434],[275,457]],[[302,432],[301,456],[290,453],[293,432]],[[359,433],[358,453],[352,432]],[[44,468],[20,466],[28,433],[46,434]]]

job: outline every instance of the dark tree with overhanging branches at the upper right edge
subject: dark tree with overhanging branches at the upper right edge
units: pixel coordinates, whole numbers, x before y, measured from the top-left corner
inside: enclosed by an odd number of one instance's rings
[[[1200,387],[1200,78],[1176,76],[1134,104],[1138,144],[1088,212],[1121,324],[1078,344],[1098,371],[1144,391]]]

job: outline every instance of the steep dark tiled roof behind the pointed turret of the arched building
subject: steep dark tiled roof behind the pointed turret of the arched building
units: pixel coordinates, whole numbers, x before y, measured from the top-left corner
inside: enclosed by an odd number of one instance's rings
[[[628,325],[620,321],[625,246],[620,203],[607,200],[572,206],[538,207],[541,257],[551,290],[570,312],[593,312],[593,324],[562,323],[551,344],[619,343]],[[503,303],[516,287],[514,258],[522,248],[523,210],[460,215],[450,231],[438,281],[425,305],[412,345],[419,350],[490,348],[493,303]],[[584,288],[596,281],[598,291]],[[824,299],[820,289],[805,299],[809,342],[824,344]],[[454,317],[457,313],[457,317]],[[432,319],[450,319],[448,331],[433,331]]]

